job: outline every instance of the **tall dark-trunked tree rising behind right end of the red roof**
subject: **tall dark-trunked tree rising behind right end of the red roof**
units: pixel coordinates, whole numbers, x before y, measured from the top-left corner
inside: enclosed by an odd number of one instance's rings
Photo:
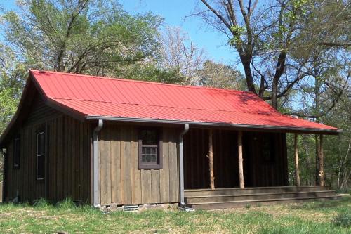
[[[277,109],[278,98],[288,95],[293,86],[305,77],[304,74],[287,77],[286,61],[291,51],[312,44],[310,41],[301,44],[302,38],[309,39],[301,37],[301,33],[310,30],[310,20],[305,20],[306,17],[319,17],[318,4],[307,0],[272,0],[267,4],[259,4],[258,0],[201,2],[205,10],[199,8],[194,15],[200,16],[208,25],[227,36],[228,43],[239,54],[249,91],[263,100],[272,100],[272,106]],[[347,5],[348,3],[338,1],[338,6]],[[333,11],[336,10],[333,8]],[[347,22],[347,18],[342,19]],[[323,18],[319,20],[322,21]],[[343,25],[345,24],[334,26],[338,30],[333,32],[345,32]],[[338,33],[332,34],[333,32],[330,36],[338,37]],[[323,44],[320,41],[317,43]],[[267,93],[270,95],[266,96]]]

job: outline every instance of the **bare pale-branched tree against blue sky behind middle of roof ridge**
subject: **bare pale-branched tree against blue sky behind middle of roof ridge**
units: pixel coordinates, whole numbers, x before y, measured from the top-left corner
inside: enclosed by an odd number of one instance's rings
[[[166,27],[161,37],[161,67],[178,70],[184,84],[197,84],[197,70],[206,59],[203,48],[190,41],[180,27]]]

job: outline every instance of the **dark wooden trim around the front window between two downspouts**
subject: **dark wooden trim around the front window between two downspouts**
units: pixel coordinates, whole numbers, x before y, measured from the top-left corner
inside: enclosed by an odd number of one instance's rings
[[[143,162],[142,161],[142,152],[143,146],[144,147],[155,147],[155,145],[143,145],[143,141],[141,139],[141,131],[143,130],[152,130],[157,131],[158,136],[158,143],[157,143],[157,163],[154,162]],[[138,162],[139,162],[139,169],[162,169],[163,168],[163,139],[162,139],[162,129],[155,128],[155,127],[143,127],[138,129]]]

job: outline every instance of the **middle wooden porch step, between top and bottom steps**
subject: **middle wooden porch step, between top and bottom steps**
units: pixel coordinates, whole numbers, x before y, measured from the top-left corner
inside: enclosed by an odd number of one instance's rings
[[[335,191],[303,191],[303,192],[286,192],[286,193],[256,193],[256,194],[239,194],[239,195],[201,195],[185,197],[185,202],[189,204],[206,203],[206,202],[234,202],[247,200],[279,200],[294,199],[305,197],[333,197]]]

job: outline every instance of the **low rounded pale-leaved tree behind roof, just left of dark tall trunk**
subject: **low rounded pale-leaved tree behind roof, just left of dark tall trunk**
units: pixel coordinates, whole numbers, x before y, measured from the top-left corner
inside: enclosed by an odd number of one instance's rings
[[[199,84],[222,89],[245,90],[243,75],[229,65],[206,60],[198,70]]]

